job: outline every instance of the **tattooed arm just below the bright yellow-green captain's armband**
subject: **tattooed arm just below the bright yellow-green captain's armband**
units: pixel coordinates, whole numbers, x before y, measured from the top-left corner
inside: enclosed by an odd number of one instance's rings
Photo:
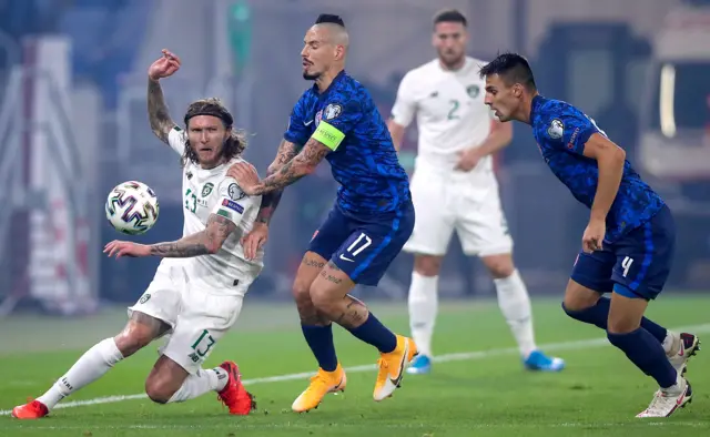
[[[286,162],[276,173],[263,179],[254,186],[254,195],[283,190],[301,177],[311,174],[331,149],[315,139],[310,139],[294,159]]]

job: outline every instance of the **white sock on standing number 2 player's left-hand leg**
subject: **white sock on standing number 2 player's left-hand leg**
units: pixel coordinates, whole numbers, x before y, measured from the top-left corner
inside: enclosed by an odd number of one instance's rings
[[[432,335],[438,311],[438,276],[412,273],[409,286],[409,327],[419,354],[432,356]]]

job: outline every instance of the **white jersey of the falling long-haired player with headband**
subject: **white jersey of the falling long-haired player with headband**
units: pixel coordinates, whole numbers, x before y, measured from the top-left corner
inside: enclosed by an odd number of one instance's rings
[[[186,146],[184,131],[173,129],[168,135],[170,146],[183,154]],[[206,286],[219,293],[231,293],[237,282],[251,283],[263,268],[263,248],[252,261],[244,258],[240,237],[248,233],[256,220],[261,206],[261,196],[247,196],[236,184],[226,176],[229,167],[237,162],[235,157],[214,169],[202,169],[192,162],[186,162],[182,174],[183,192],[183,237],[202,232],[206,228],[212,214],[222,215],[237,225],[237,232],[232,233],[216,254],[201,255],[190,258],[164,258],[159,268],[165,270],[176,264],[185,268],[189,281]]]

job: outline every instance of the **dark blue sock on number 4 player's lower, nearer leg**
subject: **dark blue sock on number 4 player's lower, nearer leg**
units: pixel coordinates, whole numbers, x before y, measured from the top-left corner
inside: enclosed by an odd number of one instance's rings
[[[676,369],[666,357],[663,346],[648,331],[638,328],[627,334],[607,332],[607,338],[623,350],[636,367],[656,379],[661,388],[676,384]]]

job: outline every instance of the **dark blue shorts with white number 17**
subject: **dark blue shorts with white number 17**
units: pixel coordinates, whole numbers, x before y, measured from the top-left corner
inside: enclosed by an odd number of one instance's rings
[[[376,217],[353,217],[335,205],[316,231],[310,252],[333,262],[356,284],[377,285],[414,230],[410,201]]]

